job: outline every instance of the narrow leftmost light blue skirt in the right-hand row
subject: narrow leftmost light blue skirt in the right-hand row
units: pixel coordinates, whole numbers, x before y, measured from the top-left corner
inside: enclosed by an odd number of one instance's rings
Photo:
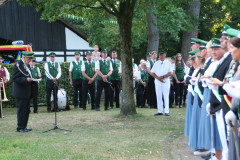
[[[184,128],[184,135],[186,137],[189,136],[190,122],[191,122],[191,116],[192,116],[192,104],[191,104],[191,101],[192,101],[192,93],[188,92],[186,118],[185,118],[185,128]]]

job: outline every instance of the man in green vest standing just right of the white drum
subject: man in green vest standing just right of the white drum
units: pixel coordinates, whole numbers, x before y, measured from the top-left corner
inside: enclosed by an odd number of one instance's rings
[[[83,107],[83,101],[82,101],[82,64],[83,61],[80,60],[80,52],[75,52],[75,61],[72,61],[69,67],[69,79],[70,83],[73,86],[74,89],[74,108]],[[78,103],[79,101],[80,103]]]

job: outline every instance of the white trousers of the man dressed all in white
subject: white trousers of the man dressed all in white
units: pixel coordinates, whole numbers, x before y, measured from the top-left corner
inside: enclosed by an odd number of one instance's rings
[[[169,90],[170,83],[161,83],[155,80],[155,90],[157,95],[158,113],[163,113],[163,100],[164,99],[164,112],[169,113]],[[163,98],[162,98],[163,96]]]

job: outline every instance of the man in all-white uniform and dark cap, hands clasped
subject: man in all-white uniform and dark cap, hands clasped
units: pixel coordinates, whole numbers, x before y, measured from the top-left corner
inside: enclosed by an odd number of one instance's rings
[[[157,95],[157,108],[158,113],[155,116],[163,115],[163,100],[164,98],[164,112],[165,116],[170,116],[169,114],[169,90],[170,90],[170,76],[172,75],[171,63],[166,59],[166,52],[162,51],[159,55],[160,60],[158,60],[151,72],[155,78],[155,88]]]

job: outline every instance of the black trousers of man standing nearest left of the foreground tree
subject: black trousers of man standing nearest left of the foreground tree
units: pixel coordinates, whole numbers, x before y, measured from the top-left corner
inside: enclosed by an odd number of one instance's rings
[[[113,101],[116,102],[116,108],[119,108],[119,93],[120,93],[120,87],[121,87],[121,81],[120,80],[112,80],[112,87],[109,87],[109,101],[110,106],[113,108]],[[115,96],[114,96],[115,95]]]

